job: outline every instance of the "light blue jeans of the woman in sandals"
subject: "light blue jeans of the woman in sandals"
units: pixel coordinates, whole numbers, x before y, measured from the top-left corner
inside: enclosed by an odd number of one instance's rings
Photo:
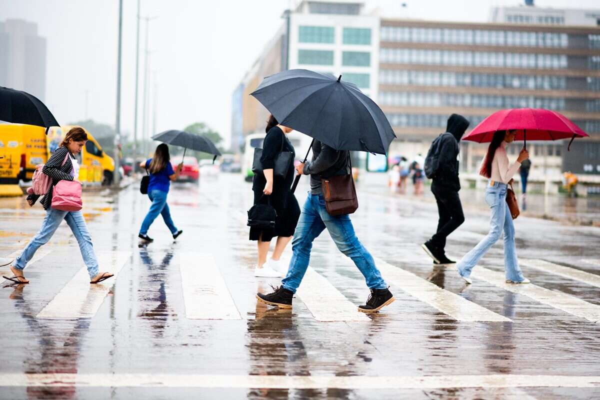
[[[52,207],[46,211],[46,218],[44,218],[44,222],[41,224],[40,231],[35,234],[33,240],[29,242],[21,255],[17,257],[13,266],[16,269],[23,270],[31,258],[34,257],[37,249],[50,240],[50,237],[55,233],[63,219],[67,221],[67,225],[69,225],[75,239],[77,239],[77,243],[79,243],[83,262],[85,263],[85,266],[88,267],[90,278],[94,278],[94,276],[98,275],[98,259],[94,252],[92,237],[85,224],[83,213],[81,211],[61,211]]]

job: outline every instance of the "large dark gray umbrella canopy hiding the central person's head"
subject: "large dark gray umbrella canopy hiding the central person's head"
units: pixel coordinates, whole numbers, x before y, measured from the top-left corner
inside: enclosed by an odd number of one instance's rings
[[[287,70],[266,77],[251,95],[281,125],[337,150],[386,154],[396,137],[379,106],[341,76]]]

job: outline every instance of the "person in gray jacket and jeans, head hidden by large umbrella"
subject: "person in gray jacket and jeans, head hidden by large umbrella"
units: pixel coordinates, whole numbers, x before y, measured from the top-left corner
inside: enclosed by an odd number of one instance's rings
[[[394,296],[383,281],[373,257],[356,237],[350,216],[329,215],[321,188],[321,178],[352,173],[350,152],[337,151],[318,140],[314,140],[312,149],[313,161],[307,164],[300,163],[296,167],[298,175],[310,175],[310,193],[294,233],[293,256],[287,275],[273,293],[257,293],[256,298],[268,305],[292,308],[293,294],[296,293],[308,268],[313,240],[327,228],[337,248],[352,258],[371,290],[367,303],[359,306],[358,311],[377,312],[392,303],[395,300]]]

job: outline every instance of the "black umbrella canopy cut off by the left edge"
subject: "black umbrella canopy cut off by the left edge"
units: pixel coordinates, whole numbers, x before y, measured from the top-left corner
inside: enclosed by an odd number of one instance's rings
[[[50,110],[37,97],[3,86],[0,86],[0,121],[44,128],[60,126]]]

